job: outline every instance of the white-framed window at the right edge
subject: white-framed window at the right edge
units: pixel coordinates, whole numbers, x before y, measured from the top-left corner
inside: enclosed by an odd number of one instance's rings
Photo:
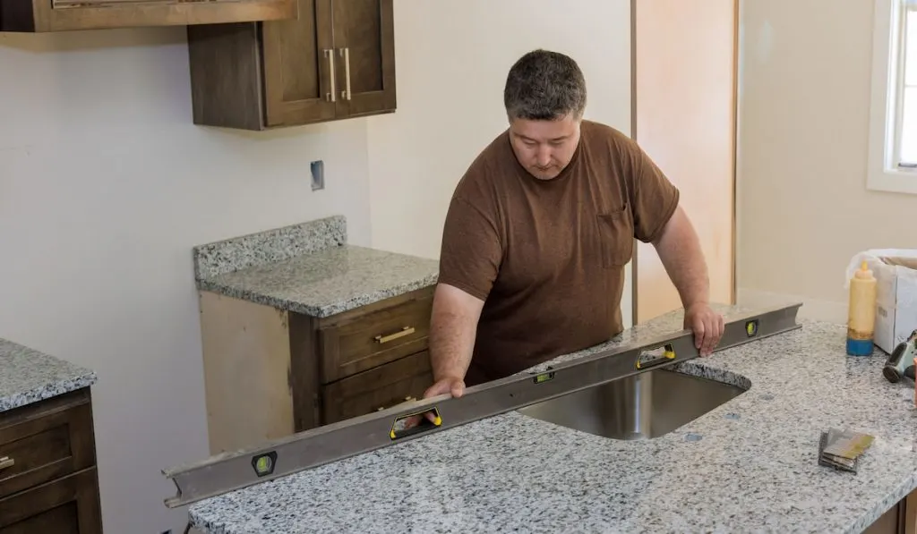
[[[917,0],[876,0],[867,187],[917,194]]]

